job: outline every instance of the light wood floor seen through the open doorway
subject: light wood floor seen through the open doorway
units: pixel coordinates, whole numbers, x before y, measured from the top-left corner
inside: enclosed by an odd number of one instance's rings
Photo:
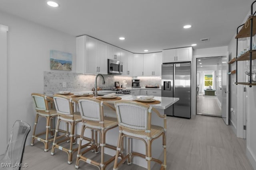
[[[196,113],[221,116],[217,96],[199,94],[196,99]]]

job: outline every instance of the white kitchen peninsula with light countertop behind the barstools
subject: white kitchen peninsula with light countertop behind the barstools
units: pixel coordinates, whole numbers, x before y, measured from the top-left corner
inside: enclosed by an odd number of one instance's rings
[[[100,94],[100,92],[98,93]],[[97,96],[98,97],[98,96]],[[97,97],[93,97],[93,98],[97,98]],[[123,96],[118,96],[120,98],[122,98],[122,100],[136,100],[137,97],[141,97],[141,96],[133,96],[133,95],[123,95]],[[175,102],[177,102],[179,100],[179,98],[169,98],[169,97],[158,97],[155,96],[154,97],[155,100],[160,101],[160,104],[153,104],[151,105],[152,107],[156,108],[160,114],[164,115],[164,109],[172,106]],[[104,102],[111,104],[112,106],[114,106],[114,103],[118,101],[118,100],[104,100]],[[145,103],[146,104],[146,103]],[[109,107],[105,107],[104,106],[104,115],[108,116],[108,117],[116,117],[116,113],[110,109]],[[153,125],[160,125],[160,126],[164,126],[164,121],[163,119],[159,118],[158,115],[156,115],[156,113],[152,113],[152,122]],[[76,127],[76,133],[79,134],[81,130],[81,124],[78,123],[77,127]],[[107,135],[106,135],[106,143],[110,144],[110,145],[117,145],[117,140],[118,140],[118,127],[116,127],[115,129],[113,129],[112,131],[108,131]],[[86,137],[90,137],[90,130],[86,129],[84,135]],[[132,139],[132,150],[136,152],[140,152],[142,154],[145,154],[146,150],[145,150],[145,144],[140,141],[140,140],[136,140],[136,139]],[[167,144],[168,145],[168,144]],[[124,141],[124,151],[126,152],[127,149],[127,143],[126,140]],[[152,144],[152,156],[154,158],[159,158],[160,155],[162,154],[163,149],[162,149],[162,139],[156,139],[153,144]],[[115,151],[114,150],[110,150],[108,148],[105,149],[105,153],[109,154],[109,155],[115,155]],[[134,157],[132,160],[133,164],[137,164],[139,166],[142,166],[144,168],[147,167],[147,161],[143,158],[140,157]],[[154,164],[154,162],[152,162],[152,165]]]

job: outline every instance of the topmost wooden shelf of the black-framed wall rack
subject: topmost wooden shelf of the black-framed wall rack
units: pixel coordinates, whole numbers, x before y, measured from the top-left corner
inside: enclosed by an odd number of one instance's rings
[[[256,24],[256,16],[252,16],[252,18],[254,19],[252,21],[252,25]],[[246,21],[246,23],[244,24],[244,26],[240,29],[239,33],[236,35],[236,38],[246,38],[246,37],[250,37],[250,29],[251,29],[251,22],[250,22],[250,18]],[[252,36],[254,36],[256,34],[256,27],[252,28]]]

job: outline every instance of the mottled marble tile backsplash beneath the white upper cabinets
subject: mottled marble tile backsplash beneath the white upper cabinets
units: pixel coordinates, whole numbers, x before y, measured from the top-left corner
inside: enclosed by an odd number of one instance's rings
[[[140,86],[146,85],[161,86],[161,77],[129,77],[104,74],[105,84],[102,84],[102,77],[98,77],[98,87],[102,89],[111,89],[115,86],[115,82],[123,84],[126,80],[127,88],[132,87],[132,79],[140,79]],[[96,74],[79,74],[74,72],[58,72],[44,71],[44,94],[54,94],[58,91],[90,91],[94,88]],[[66,82],[66,87],[63,87],[63,82]],[[84,84],[86,87],[84,87]]]

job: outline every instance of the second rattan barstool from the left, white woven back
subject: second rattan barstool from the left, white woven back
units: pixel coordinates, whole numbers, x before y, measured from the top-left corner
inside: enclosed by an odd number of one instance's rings
[[[74,113],[74,102],[75,100],[72,100],[69,96],[64,96],[60,94],[55,94],[53,96],[54,104],[58,113],[58,122],[56,125],[55,135],[54,135],[54,141],[52,143],[52,152],[51,154],[54,155],[54,149],[63,150],[68,154],[68,164],[72,163],[72,156],[74,152],[78,150],[78,147],[73,148],[73,145],[76,143],[76,139],[80,138],[80,135],[75,135],[75,127],[78,122],[82,121],[80,113]],[[64,121],[67,124],[70,124],[71,130],[70,134],[64,134],[58,136],[60,121]],[[67,125],[67,131],[68,131],[68,125]],[[61,131],[60,131],[61,132]],[[61,141],[57,141],[57,139],[60,139],[64,137]],[[64,142],[70,142],[69,148],[65,148],[62,144]],[[61,146],[62,145],[62,146]]]

